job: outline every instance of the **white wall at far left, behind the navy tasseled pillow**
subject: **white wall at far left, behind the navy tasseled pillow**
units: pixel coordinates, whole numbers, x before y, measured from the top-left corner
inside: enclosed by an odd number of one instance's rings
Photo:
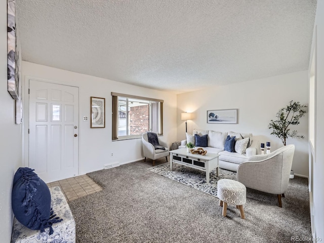
[[[13,223],[11,190],[21,166],[21,125],[15,125],[15,102],[7,91],[7,1],[0,1],[0,236],[10,242]]]

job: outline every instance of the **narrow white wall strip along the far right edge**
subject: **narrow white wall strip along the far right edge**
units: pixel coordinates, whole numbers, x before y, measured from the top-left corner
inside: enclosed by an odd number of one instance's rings
[[[317,27],[317,70],[315,71],[315,76],[317,84],[315,87],[316,90],[316,110],[315,110],[315,159],[313,162],[313,172],[312,172],[312,181],[310,182],[313,185],[312,195],[313,195],[313,208],[311,212],[314,213],[314,222],[313,225],[315,231],[315,237],[321,238],[321,241],[324,240],[324,149],[323,149],[323,136],[324,136],[324,2],[317,1],[316,17],[314,29]],[[314,36],[314,35],[313,35]],[[314,45],[314,39],[313,39]]]

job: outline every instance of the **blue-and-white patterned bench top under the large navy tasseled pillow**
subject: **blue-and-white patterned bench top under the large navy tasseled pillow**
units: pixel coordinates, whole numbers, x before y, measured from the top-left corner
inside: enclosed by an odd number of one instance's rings
[[[54,233],[49,235],[50,228],[46,228],[43,233],[40,230],[28,229],[15,218],[11,243],[75,242],[75,221],[63,192],[59,186],[51,187],[50,192],[54,214],[63,219],[63,221],[53,224]]]

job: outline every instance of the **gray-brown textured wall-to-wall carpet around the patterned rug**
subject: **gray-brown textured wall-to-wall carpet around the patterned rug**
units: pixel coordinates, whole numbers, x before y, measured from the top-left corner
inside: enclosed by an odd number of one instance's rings
[[[156,164],[165,163],[165,159]],[[76,242],[292,242],[310,237],[308,181],[277,196],[247,190],[246,219],[216,197],[152,173],[149,159],[89,173],[103,190],[69,202]],[[306,241],[307,242],[307,241]]]

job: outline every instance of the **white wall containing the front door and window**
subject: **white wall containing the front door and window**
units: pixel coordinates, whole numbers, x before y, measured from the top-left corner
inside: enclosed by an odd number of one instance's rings
[[[48,66],[23,62],[23,75],[25,79],[26,99],[28,104],[28,80],[47,79],[49,82],[79,87],[79,174],[103,169],[104,164],[129,163],[143,157],[142,140],[131,139],[123,141],[111,140],[111,92],[132,94],[164,100],[164,136],[162,140],[171,143],[176,141],[176,104],[175,94],[161,92],[128,84],[114,82],[108,79],[70,72]],[[90,97],[106,99],[106,127],[91,129],[90,120],[83,121],[82,117],[90,117]],[[25,106],[28,112],[28,106]],[[28,126],[28,113],[25,114]],[[26,127],[26,131],[28,127]],[[28,136],[25,134],[25,154],[28,154]],[[113,152],[113,157],[111,153]]]

